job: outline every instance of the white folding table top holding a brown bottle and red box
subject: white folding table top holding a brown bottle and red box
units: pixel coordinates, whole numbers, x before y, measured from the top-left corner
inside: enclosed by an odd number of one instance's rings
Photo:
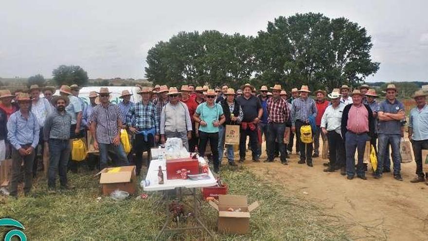
[[[217,185],[217,181],[214,178],[213,173],[210,169],[208,169],[208,175],[210,179],[203,179],[193,181],[190,179],[182,180],[182,179],[166,179],[166,171],[163,172],[164,182],[163,184],[158,184],[158,171],[159,166],[162,167],[162,170],[166,170],[166,162],[160,160],[152,160],[150,161],[150,166],[147,171],[147,176],[145,178],[146,181],[149,181],[150,184],[148,186],[143,186],[144,191],[161,191],[161,190],[171,190],[177,187],[186,187],[186,188],[195,188],[195,187],[207,187]]]

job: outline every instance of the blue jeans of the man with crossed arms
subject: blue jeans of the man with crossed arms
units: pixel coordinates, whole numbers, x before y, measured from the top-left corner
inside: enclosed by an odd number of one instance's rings
[[[401,154],[400,154],[400,134],[377,134],[377,170],[376,173],[382,174],[384,167],[385,154],[388,144],[392,149],[392,163],[394,164],[394,175],[401,171]],[[386,165],[385,165],[386,166]]]

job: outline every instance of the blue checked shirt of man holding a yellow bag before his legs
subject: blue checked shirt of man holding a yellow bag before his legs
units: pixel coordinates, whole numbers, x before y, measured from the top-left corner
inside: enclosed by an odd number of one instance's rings
[[[309,116],[317,117],[318,109],[315,101],[311,98],[302,99],[301,97],[293,100],[291,104],[291,125],[296,125],[296,120],[306,122]]]

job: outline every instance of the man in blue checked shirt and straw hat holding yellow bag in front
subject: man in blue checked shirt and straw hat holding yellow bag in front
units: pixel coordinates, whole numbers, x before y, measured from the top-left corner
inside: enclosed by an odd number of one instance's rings
[[[293,100],[291,105],[291,131],[296,133],[298,139],[301,138],[300,129],[302,126],[309,125],[309,118],[316,118],[318,114],[317,106],[315,101],[309,98],[309,89],[307,85],[302,85],[299,90],[300,97]],[[312,143],[303,143],[300,139],[300,161],[299,164],[306,163],[309,167],[313,167],[312,164]]]

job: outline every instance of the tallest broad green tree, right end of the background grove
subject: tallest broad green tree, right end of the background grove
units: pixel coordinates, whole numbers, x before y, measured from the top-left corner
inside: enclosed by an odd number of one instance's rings
[[[370,58],[372,46],[365,28],[345,18],[329,19],[319,13],[279,17],[254,40],[255,76],[287,88],[357,86],[379,69]]]

